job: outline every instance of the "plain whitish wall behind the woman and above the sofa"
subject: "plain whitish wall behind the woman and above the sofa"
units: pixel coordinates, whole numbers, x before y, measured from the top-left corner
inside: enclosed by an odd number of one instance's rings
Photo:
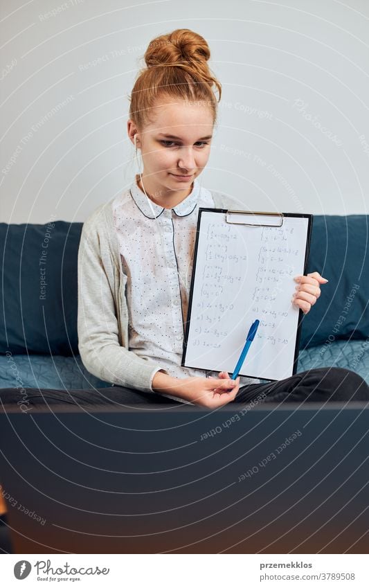
[[[368,1],[0,7],[1,221],[81,221],[130,184],[127,94],[174,28],[208,40],[223,84],[204,186],[257,211],[367,213]]]

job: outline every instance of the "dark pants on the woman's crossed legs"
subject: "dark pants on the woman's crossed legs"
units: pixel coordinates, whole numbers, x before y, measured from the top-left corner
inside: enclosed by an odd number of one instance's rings
[[[141,392],[123,386],[88,390],[49,390],[27,388],[19,393],[15,388],[0,389],[3,404],[18,404],[19,410],[27,412],[28,407],[48,404],[182,404],[165,397],[165,394]],[[347,402],[349,400],[369,401],[369,386],[357,373],[342,368],[316,368],[301,372],[285,380],[267,384],[243,386],[234,402]],[[21,405],[20,402],[23,401]],[[231,402],[229,404],[233,404]]]

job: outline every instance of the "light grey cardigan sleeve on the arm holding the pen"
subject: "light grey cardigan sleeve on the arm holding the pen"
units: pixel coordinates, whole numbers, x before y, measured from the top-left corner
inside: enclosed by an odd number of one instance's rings
[[[78,249],[78,349],[82,363],[100,380],[153,392],[154,374],[165,369],[120,344],[114,260],[100,237],[96,224],[87,220]]]

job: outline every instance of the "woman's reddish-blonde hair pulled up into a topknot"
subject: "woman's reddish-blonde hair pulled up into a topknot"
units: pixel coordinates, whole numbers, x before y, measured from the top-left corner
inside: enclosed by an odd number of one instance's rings
[[[146,66],[138,72],[129,98],[129,118],[142,130],[150,123],[150,110],[159,97],[207,103],[217,119],[217,102],[222,85],[207,64],[209,46],[201,35],[188,28],[152,39],[145,51]],[[219,98],[215,97],[213,86]]]

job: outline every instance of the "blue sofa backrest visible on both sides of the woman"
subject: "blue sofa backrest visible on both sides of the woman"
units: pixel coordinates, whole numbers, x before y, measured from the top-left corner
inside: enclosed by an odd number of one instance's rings
[[[300,348],[369,337],[369,217],[314,216],[308,272],[329,282],[303,318]],[[0,353],[78,353],[82,223],[0,223]]]

